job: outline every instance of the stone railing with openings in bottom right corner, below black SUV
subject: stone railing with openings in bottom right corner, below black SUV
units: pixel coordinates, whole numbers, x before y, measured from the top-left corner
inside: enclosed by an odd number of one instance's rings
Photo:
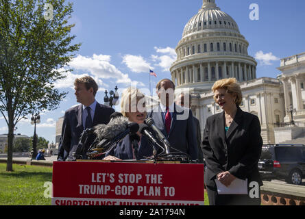
[[[260,187],[263,205],[305,205],[305,186],[264,181]]]

